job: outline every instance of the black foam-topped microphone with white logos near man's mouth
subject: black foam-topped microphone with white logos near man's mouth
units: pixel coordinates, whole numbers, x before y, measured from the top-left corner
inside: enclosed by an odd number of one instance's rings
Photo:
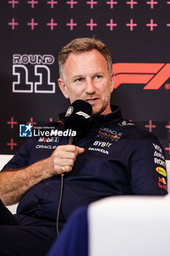
[[[74,144],[78,136],[85,135],[92,116],[92,107],[82,99],[75,100],[66,111],[64,127],[76,131],[76,136],[69,136],[68,144]]]

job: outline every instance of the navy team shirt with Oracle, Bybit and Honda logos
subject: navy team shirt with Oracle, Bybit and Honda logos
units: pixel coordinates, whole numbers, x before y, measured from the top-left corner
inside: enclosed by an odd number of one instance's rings
[[[64,129],[60,122],[50,125]],[[58,137],[57,142],[28,140],[4,169],[24,167],[50,157],[58,145],[67,141],[64,137]],[[72,172],[64,176],[61,226],[78,207],[103,197],[167,194],[164,184],[158,186],[159,178],[166,181],[156,171],[156,167],[163,166],[154,161],[154,145],[161,148],[158,139],[123,119],[117,106],[106,116],[93,117],[90,130],[76,145],[85,148],[85,152],[77,156]],[[163,148],[161,151],[163,155]],[[55,221],[60,189],[61,176],[39,182],[23,195],[18,214]]]

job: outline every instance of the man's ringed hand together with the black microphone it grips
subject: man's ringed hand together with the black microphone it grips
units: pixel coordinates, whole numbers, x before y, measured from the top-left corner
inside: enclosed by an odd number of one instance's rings
[[[69,136],[68,145],[58,146],[50,159],[53,163],[51,174],[53,176],[63,172],[70,172],[76,161],[77,154],[82,154],[85,149],[73,144],[79,136],[85,135],[90,125],[92,107],[88,102],[77,99],[66,111],[64,122],[65,129],[72,129],[77,132],[76,136]]]

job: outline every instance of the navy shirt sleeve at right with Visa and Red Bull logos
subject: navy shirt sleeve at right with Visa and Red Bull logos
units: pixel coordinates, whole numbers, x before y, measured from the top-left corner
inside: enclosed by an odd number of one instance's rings
[[[136,143],[128,171],[134,195],[168,193],[165,154],[155,135],[150,134]]]

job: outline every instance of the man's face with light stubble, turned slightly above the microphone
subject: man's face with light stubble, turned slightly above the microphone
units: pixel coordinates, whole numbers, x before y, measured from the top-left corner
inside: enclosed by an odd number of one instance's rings
[[[92,106],[93,116],[111,113],[114,76],[109,75],[107,61],[98,50],[71,53],[64,65],[64,76],[64,80],[58,79],[58,84],[71,104],[82,99]]]

